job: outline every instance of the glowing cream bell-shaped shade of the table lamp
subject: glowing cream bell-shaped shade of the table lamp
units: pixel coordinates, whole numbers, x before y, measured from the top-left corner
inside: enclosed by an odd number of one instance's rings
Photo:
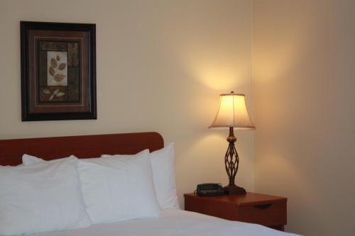
[[[255,126],[250,120],[246,109],[245,95],[230,94],[219,95],[219,109],[216,118],[209,128],[234,127],[237,130],[254,130]]]

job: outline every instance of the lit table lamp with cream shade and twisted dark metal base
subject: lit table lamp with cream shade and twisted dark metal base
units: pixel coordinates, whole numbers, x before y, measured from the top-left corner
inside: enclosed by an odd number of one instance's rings
[[[239,156],[234,145],[234,142],[236,142],[234,128],[236,130],[255,130],[255,126],[251,122],[246,109],[245,95],[234,94],[233,91],[230,94],[219,95],[217,116],[209,128],[229,128],[229,136],[226,138],[229,146],[224,155],[224,164],[229,184],[224,187],[224,191],[231,195],[245,194],[245,189],[235,184],[236,172],[238,172],[239,167]]]

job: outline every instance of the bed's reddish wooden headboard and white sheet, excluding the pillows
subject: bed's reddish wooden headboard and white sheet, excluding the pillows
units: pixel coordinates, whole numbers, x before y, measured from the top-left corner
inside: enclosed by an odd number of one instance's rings
[[[164,147],[158,133],[126,133],[85,135],[71,137],[42,137],[0,140],[0,165],[16,166],[22,163],[24,153],[59,159],[74,154],[77,158],[94,158],[101,154],[136,154]],[[99,223],[76,230],[42,232],[40,236],[138,236],[138,235],[292,235],[261,225],[222,220],[208,215],[180,209],[160,211],[158,218],[124,220],[116,223]]]

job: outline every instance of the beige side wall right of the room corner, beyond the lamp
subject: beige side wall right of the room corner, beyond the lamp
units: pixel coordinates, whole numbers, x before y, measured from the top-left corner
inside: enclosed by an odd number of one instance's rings
[[[355,1],[255,0],[255,189],[288,227],[355,235]]]

